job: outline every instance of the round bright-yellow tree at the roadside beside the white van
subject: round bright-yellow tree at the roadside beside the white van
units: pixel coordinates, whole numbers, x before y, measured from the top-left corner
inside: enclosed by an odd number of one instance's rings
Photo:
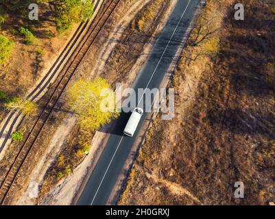
[[[83,129],[98,130],[119,116],[115,92],[100,77],[92,81],[75,81],[68,90],[68,105]]]

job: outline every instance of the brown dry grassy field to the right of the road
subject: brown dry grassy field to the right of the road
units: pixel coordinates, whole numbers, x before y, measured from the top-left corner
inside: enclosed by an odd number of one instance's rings
[[[154,120],[119,204],[275,200],[274,1],[243,3],[245,21],[235,21],[235,1],[208,1],[198,22],[222,18],[221,29],[192,46],[197,23],[170,85],[175,118]],[[217,53],[205,54],[217,38]],[[245,185],[243,199],[234,197],[236,181]]]

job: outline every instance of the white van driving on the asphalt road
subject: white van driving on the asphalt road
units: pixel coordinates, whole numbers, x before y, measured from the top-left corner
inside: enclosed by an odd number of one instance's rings
[[[134,136],[134,132],[136,131],[136,127],[139,125],[139,121],[141,120],[141,116],[143,115],[143,110],[139,107],[136,107],[130,116],[128,123],[124,129],[124,134],[126,136]]]

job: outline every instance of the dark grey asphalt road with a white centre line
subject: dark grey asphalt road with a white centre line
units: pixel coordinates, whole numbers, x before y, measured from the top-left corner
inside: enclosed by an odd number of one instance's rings
[[[187,27],[189,27],[199,2],[199,0],[178,0],[178,4],[171,14],[166,27],[154,44],[147,63],[134,81],[134,90],[138,88],[159,88],[178,47],[181,47],[182,43],[184,43],[182,38],[187,33]],[[140,102],[139,99],[137,99],[136,103],[138,102]],[[145,105],[142,103],[143,101],[141,101],[139,107],[144,109]],[[99,158],[77,205],[106,205],[121,174],[125,160],[134,145],[137,133],[145,120],[145,116],[146,114],[141,118],[133,138],[123,136],[123,129],[128,122],[130,114],[122,113],[117,119],[115,127],[113,127],[115,132],[111,133],[106,148]]]

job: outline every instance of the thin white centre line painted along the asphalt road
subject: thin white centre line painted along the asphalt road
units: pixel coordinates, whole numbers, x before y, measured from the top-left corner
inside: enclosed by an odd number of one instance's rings
[[[180,17],[180,21],[178,21],[178,25],[177,25],[176,28],[174,29],[174,32],[173,32],[171,38],[169,39],[169,42],[168,42],[168,44],[167,44],[165,50],[163,51],[163,55],[161,55],[160,60],[158,61],[158,64],[156,65],[156,68],[154,69],[154,72],[153,72],[153,74],[152,74],[152,77],[150,78],[150,81],[147,83],[147,86],[146,86],[145,90],[148,88],[150,82],[152,81],[152,78],[154,77],[154,74],[156,73],[156,70],[157,70],[158,66],[160,65],[161,60],[163,60],[163,56],[164,56],[165,52],[167,51],[167,48],[169,47],[169,44],[170,44],[172,38],[174,37],[174,35],[175,35],[175,33],[176,33],[177,29],[178,29],[178,26],[180,25],[180,22],[182,21],[182,18],[183,18],[183,16],[184,16],[185,12],[187,11],[187,8],[188,8],[190,2],[191,2],[191,0],[189,0],[189,2],[188,2],[188,4],[187,4],[187,7],[185,8],[184,12],[182,13],[182,16]],[[144,94],[145,94],[145,91],[143,92],[143,95],[142,95],[141,99],[143,98]],[[139,103],[141,102],[141,99],[140,99]],[[138,103],[138,105],[139,105],[139,103]],[[101,182],[100,182],[100,184],[99,184],[99,187],[97,188],[97,192],[95,192],[95,196],[93,197],[93,201],[92,201],[91,205],[93,205],[93,202],[95,201],[95,198],[96,198],[96,196],[97,196],[97,193],[98,193],[98,191],[99,191],[99,189],[100,189],[100,187],[101,187],[101,185],[102,185],[102,183],[103,183],[103,181],[104,181],[104,179],[105,179],[105,177],[106,177],[106,175],[107,175],[107,172],[108,172],[108,170],[109,170],[109,168],[110,168],[110,166],[111,166],[111,164],[112,164],[112,160],[114,159],[115,155],[117,154],[117,150],[119,149],[119,146],[121,145],[121,142],[122,142],[123,138],[124,138],[124,136],[121,137],[121,140],[120,140],[120,142],[119,142],[119,145],[117,146],[117,149],[115,150],[114,155],[112,155],[112,159],[110,160],[110,164],[108,165],[108,168],[107,168],[107,170],[105,171],[103,178],[101,179]]]

